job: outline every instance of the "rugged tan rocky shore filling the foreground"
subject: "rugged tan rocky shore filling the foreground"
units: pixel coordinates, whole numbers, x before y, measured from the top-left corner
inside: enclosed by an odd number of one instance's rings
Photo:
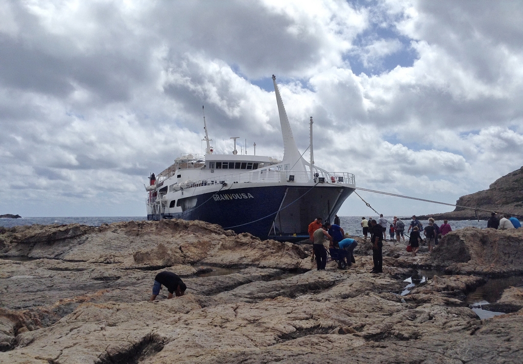
[[[350,269],[316,271],[310,245],[200,221],[1,228],[0,362],[522,362],[523,288],[492,319],[465,303],[489,277],[523,274],[521,231],[465,228],[415,258],[387,242],[380,275],[357,240]],[[164,269],[186,295],[147,302]]]

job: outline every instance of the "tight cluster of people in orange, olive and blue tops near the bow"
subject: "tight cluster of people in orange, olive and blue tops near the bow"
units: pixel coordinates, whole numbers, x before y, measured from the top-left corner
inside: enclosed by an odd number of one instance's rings
[[[325,270],[327,265],[327,251],[323,245],[325,238],[329,241],[329,248],[340,249],[342,254],[341,259],[346,261],[346,266],[350,267],[352,263],[356,263],[353,251],[358,243],[351,238],[345,237],[345,231],[339,225],[339,218],[331,224],[328,221],[322,224],[322,218],[316,218],[309,224],[309,238],[312,241],[312,256],[311,261],[316,259],[316,269]]]

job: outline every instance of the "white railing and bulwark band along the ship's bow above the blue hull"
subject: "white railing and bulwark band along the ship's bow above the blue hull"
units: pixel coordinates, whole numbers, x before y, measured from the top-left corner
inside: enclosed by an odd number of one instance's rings
[[[325,172],[316,170],[310,172],[297,170],[256,170],[253,172],[232,173],[198,181],[190,181],[187,184],[181,184],[180,187],[196,188],[211,185],[237,184],[237,183],[325,183],[334,185],[355,185],[354,174],[347,172]]]

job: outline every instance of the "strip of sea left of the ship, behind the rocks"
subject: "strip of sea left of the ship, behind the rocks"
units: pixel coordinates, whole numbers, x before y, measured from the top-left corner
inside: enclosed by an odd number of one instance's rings
[[[20,225],[50,225],[50,224],[83,224],[89,226],[100,226],[103,223],[110,224],[120,221],[142,221],[146,216],[87,216],[87,217],[49,217],[49,218],[21,218],[0,219],[0,226],[12,228]]]

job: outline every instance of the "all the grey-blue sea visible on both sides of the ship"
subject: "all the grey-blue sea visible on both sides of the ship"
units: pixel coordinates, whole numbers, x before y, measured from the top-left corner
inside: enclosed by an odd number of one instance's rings
[[[369,218],[368,216],[366,217]],[[373,217],[373,219],[377,219],[378,217]],[[385,216],[385,219],[392,222],[393,216]],[[113,223],[113,222],[120,222],[120,221],[143,221],[147,220],[147,217],[145,216],[88,216],[88,217],[34,217],[34,218],[20,218],[20,219],[0,219],[0,226],[4,226],[5,228],[12,228],[13,226],[20,226],[20,225],[32,225],[32,224],[41,224],[41,225],[50,225],[50,224],[83,224],[83,225],[90,225],[90,226],[100,226],[103,223]],[[361,216],[340,216],[340,225],[342,226],[343,230],[348,233],[351,236],[363,236],[362,229],[361,229]],[[405,223],[405,231],[410,224],[410,219],[403,219],[402,221]],[[422,221],[423,226],[427,225],[427,221]],[[443,221],[436,221],[438,226],[441,226]],[[466,226],[475,226],[476,228],[486,228],[487,222],[485,220],[456,220],[456,221],[450,221],[449,222],[452,230],[462,229]]]

